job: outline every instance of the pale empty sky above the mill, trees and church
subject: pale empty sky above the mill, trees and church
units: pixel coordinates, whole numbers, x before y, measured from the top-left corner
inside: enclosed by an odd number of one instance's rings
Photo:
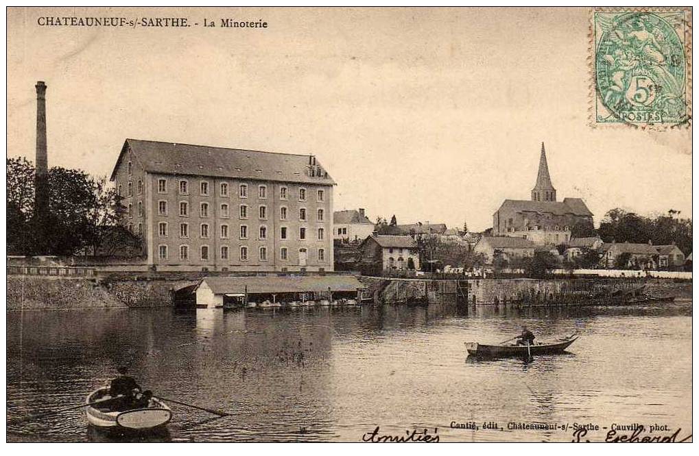
[[[586,8],[10,8],[8,155],[34,160],[44,80],[50,166],[109,174],[127,137],[308,153],[336,210],[481,230],[529,198],[543,141],[559,200],[582,197],[596,224],[617,206],[691,216],[691,130],[589,126],[588,31]]]

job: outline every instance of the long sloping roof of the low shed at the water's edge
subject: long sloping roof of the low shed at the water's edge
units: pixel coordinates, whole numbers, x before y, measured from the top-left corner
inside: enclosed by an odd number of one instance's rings
[[[206,277],[214,294],[226,293],[301,293],[303,291],[356,291],[364,288],[353,275],[324,275],[312,277]]]

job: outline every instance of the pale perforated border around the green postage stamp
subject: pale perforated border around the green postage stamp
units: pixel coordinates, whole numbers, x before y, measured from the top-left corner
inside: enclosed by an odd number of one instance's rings
[[[618,122],[598,122],[597,108],[599,92],[596,75],[596,23],[595,13],[676,13],[682,12],[684,15],[684,33],[681,39],[684,45],[685,59],[685,83],[684,101],[686,102],[686,119],[680,123],[634,123],[619,120]],[[692,121],[692,10],[691,8],[669,8],[669,7],[593,7],[589,8],[589,31],[588,31],[588,56],[587,69],[589,75],[588,87],[588,126],[591,128],[636,128],[640,130],[664,131],[677,128],[691,128]]]

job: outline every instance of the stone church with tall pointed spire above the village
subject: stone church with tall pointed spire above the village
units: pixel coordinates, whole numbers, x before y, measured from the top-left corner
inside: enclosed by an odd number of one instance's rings
[[[538,245],[559,245],[570,241],[576,225],[593,223],[592,213],[581,198],[556,200],[544,143],[541,144],[539,172],[531,200],[505,199],[493,214],[493,236],[514,236]]]

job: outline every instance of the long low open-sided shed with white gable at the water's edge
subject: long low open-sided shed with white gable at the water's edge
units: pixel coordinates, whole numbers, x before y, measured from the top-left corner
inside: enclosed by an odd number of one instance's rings
[[[364,285],[353,275],[206,277],[196,307],[282,307],[358,302]]]

